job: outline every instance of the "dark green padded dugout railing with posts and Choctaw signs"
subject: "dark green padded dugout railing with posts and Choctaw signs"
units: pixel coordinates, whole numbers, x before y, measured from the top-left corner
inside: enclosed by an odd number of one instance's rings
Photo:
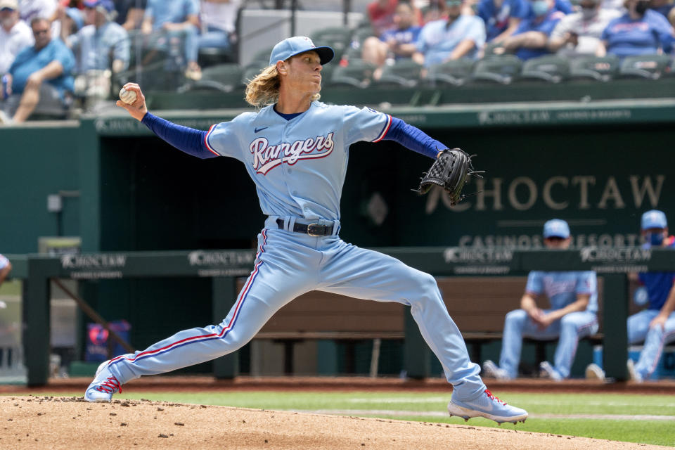
[[[675,252],[641,248],[513,250],[502,248],[378,248],[434,276],[525,276],[531,270],[595,270],[603,278],[603,364],[608,378],[626,380],[629,272],[671,271]],[[13,277],[23,280],[23,349],[27,385],[46,385],[49,377],[50,281],[208,277],[212,279],[212,317],[219,323],[236,300],[237,278],[252,269],[252,250],[106,252],[45,257],[7,255]],[[404,314],[404,368],[409,376],[430,373],[430,353],[410,314]],[[217,378],[237,373],[234,354],[214,361]]]

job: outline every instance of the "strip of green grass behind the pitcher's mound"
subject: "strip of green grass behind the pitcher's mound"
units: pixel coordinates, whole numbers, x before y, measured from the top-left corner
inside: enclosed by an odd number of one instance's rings
[[[44,395],[44,394],[41,394]],[[63,396],[61,394],[54,394]],[[82,392],[74,393],[82,396]],[[573,415],[674,416],[675,396],[631,394],[531,394],[503,392],[500,397],[527,409],[531,418],[501,428],[675,446],[675,420],[636,418],[574,418]],[[191,404],[239,406],[253,409],[342,411],[349,416],[464,424],[444,416],[448,392],[124,392],[116,399],[150,399]],[[350,412],[351,411],[351,412]],[[354,411],[357,411],[354,413]],[[374,411],[375,413],[368,413]],[[382,412],[377,412],[382,411]],[[385,411],[394,411],[387,414]],[[395,413],[404,412],[405,415]],[[536,416],[544,416],[539,417]],[[570,416],[559,418],[551,416]],[[491,420],[471,419],[468,424],[497,427]]]

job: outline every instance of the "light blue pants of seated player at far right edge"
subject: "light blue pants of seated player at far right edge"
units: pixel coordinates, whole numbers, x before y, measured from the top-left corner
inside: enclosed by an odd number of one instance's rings
[[[628,343],[637,344],[644,341],[640,358],[635,371],[643,380],[652,375],[663,353],[663,347],[675,341],[675,312],[668,316],[665,327],[649,328],[649,323],[659,314],[658,309],[643,309],[628,318]]]

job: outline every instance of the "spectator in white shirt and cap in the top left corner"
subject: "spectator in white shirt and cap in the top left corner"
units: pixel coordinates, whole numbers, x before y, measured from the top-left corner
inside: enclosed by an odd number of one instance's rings
[[[20,51],[33,44],[30,27],[19,18],[16,0],[0,0],[0,75],[4,75]]]

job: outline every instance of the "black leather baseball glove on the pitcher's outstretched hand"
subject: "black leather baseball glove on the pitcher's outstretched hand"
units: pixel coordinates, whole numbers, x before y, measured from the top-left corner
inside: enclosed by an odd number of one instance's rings
[[[441,186],[449,195],[450,205],[456,205],[466,197],[462,193],[466,177],[477,176],[478,178],[482,178],[480,174],[485,172],[484,170],[475,171],[473,169],[471,158],[474,156],[459,148],[453,148],[452,150],[446,148],[438,155],[429,172],[422,174],[420,186],[412,191],[423,195],[428,193],[432,185]]]

